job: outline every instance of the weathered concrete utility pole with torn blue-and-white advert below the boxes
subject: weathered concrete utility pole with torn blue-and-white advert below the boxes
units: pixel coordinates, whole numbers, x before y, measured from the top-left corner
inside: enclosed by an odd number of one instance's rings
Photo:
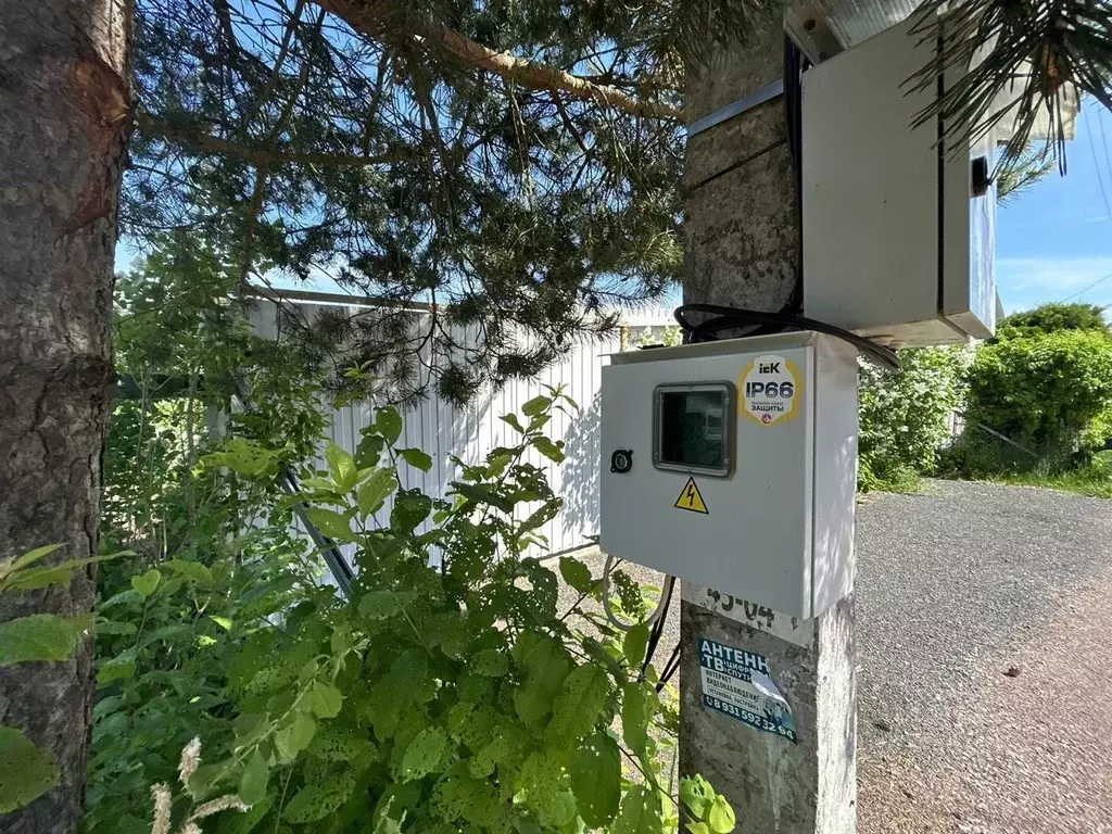
[[[777,23],[687,79],[689,123],[783,75]],[[685,302],[778,310],[791,297],[801,268],[800,221],[786,138],[782,97],[691,137]],[[738,832],[855,830],[854,634],[852,595],[816,619],[798,622],[741,599],[715,599],[684,583],[679,767],[702,773],[727,796]],[[797,743],[704,704],[703,638],[765,658],[791,708]]]

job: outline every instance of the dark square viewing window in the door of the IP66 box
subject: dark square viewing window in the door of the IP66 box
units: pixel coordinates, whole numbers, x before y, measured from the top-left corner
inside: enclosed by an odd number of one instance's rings
[[[653,465],[728,477],[737,423],[734,386],[662,385],[653,395]]]

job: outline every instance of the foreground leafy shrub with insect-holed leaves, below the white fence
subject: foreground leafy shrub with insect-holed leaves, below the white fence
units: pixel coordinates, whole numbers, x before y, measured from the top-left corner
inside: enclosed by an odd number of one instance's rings
[[[350,602],[284,540],[288,502],[226,552],[142,566],[98,620],[87,831],[149,831],[152,784],[159,826],[215,833],[675,831],[659,754],[678,719],[642,674],[647,626],[582,607],[600,583],[570,557],[582,598],[557,610],[557,574],[525,555],[560,500],[523,456],[563,460],[544,427],[565,405],[552,389],[506,416],[516,443],[457,460],[450,500],[401,483],[400,460],[431,460],[395,446],[391,408],[355,455],[329,446],[300,498],[355,553]],[[262,480],[274,454],[230,441],[201,466]],[[681,795],[698,831],[733,828],[705,782]]]

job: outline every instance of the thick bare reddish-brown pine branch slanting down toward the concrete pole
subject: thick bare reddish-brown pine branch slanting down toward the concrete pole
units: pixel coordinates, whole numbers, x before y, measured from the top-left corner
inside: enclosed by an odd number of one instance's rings
[[[595,83],[580,76],[530,61],[527,58],[499,52],[467,38],[447,27],[416,23],[407,19],[405,31],[398,28],[404,12],[394,0],[316,0],[328,11],[341,18],[357,32],[384,43],[417,39],[434,43],[457,60],[513,81],[529,90],[563,92],[572,98],[592,101],[599,107],[622,110],[631,116],[651,119],[679,119],[683,111],[658,101],[644,101],[606,85]]]

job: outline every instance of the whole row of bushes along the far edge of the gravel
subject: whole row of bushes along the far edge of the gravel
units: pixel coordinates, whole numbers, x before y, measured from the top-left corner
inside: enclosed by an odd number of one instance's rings
[[[1112,334],[1101,307],[1043,305],[975,348],[902,359],[902,374],[862,371],[862,489],[941,476],[1112,497]]]

